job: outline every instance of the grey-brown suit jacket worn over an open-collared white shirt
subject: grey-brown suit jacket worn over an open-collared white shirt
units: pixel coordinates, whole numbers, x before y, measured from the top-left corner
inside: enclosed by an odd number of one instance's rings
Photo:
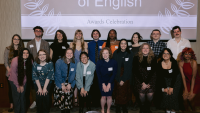
[[[33,47],[30,47],[30,45],[33,45]],[[33,55],[33,58],[35,59],[35,57],[37,56],[35,39],[29,41],[26,47],[29,49],[29,51]],[[50,54],[49,43],[43,39],[41,39],[40,49],[44,49],[47,51],[48,54]]]

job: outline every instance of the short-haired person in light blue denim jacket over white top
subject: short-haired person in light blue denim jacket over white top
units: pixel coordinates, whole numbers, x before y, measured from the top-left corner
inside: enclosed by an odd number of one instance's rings
[[[94,78],[95,64],[89,60],[86,52],[81,52],[76,69],[76,86],[79,92],[79,113],[83,113],[84,103],[87,111],[91,111],[90,87]]]

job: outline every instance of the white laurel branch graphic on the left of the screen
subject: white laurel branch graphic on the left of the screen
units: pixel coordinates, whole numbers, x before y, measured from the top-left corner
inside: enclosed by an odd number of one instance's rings
[[[24,7],[26,7],[29,10],[32,10],[32,12],[28,16],[41,16],[41,18],[38,20],[37,25],[40,26],[48,26],[45,35],[54,35],[55,32],[60,27],[60,21],[61,21],[61,12],[58,14],[54,14],[54,8],[49,11],[48,14],[45,14],[48,11],[49,4],[46,4],[42,7],[42,4],[44,3],[44,0],[28,0],[29,2],[24,4]],[[42,7],[42,8],[41,8]],[[56,18],[53,18],[56,16]],[[48,18],[44,18],[48,17]]]

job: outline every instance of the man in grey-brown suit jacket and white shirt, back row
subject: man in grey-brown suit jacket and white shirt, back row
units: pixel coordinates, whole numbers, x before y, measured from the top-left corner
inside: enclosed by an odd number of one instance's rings
[[[43,28],[40,26],[36,26],[33,28],[34,30],[34,34],[35,34],[35,38],[31,41],[29,41],[27,43],[27,48],[29,49],[30,53],[33,55],[33,58],[35,59],[35,57],[37,56],[37,52],[40,49],[44,49],[47,51],[47,53],[50,53],[50,49],[49,49],[49,43],[45,40],[42,39],[43,36]],[[31,93],[32,93],[32,99],[33,99],[33,103],[30,106],[31,109],[36,107],[36,95],[35,95],[35,90],[33,85],[31,86]]]

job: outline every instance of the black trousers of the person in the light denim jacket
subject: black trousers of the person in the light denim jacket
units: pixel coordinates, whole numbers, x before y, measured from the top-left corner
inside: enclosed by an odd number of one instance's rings
[[[82,97],[80,94],[81,90],[78,90],[78,98],[79,98],[79,106],[80,108],[84,108],[84,103],[86,102],[87,107],[91,107],[91,97],[90,93],[88,92],[88,95],[86,97]]]

